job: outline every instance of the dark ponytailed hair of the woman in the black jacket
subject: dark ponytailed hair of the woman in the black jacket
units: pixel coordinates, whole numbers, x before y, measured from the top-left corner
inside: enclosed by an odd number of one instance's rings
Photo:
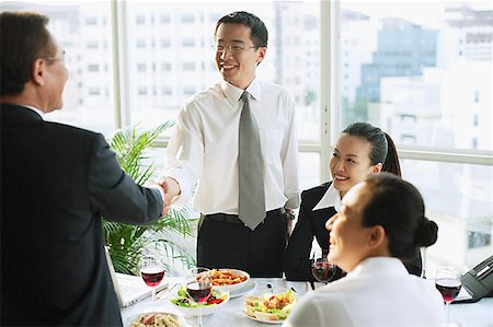
[[[368,141],[371,144],[371,164],[376,165],[381,163],[382,172],[389,172],[394,175],[402,176],[395,144],[388,133],[368,122],[351,124],[343,130],[343,133]]]

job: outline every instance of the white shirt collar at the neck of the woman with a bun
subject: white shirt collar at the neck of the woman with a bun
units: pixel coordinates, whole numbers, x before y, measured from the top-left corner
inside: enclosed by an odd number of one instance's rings
[[[394,257],[370,257],[359,262],[347,277],[409,275],[402,261]]]

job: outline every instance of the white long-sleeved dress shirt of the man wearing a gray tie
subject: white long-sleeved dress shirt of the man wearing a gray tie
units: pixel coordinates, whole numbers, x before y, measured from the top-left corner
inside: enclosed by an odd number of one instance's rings
[[[282,86],[259,81],[245,90],[259,125],[264,157],[266,211],[299,206],[295,102]],[[193,96],[180,110],[167,149],[167,175],[204,214],[238,214],[238,138],[243,90],[221,81]]]

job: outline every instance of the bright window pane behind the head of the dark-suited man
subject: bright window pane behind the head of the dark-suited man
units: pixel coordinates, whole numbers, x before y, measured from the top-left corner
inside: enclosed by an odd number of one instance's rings
[[[98,48],[101,43],[112,44],[108,24],[110,2],[0,2],[0,11],[36,11],[49,17],[50,32],[71,58],[69,80],[64,90],[64,107],[45,116],[47,120],[66,122],[104,132],[115,130],[112,80],[112,48]],[[89,48],[89,50],[88,50]],[[108,65],[108,72],[100,69]],[[101,90],[108,90],[107,94]]]

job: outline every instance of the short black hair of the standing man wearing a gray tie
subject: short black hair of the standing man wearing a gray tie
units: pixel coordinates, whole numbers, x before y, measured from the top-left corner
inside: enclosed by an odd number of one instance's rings
[[[256,48],[266,47],[268,40],[267,27],[265,27],[264,22],[252,13],[245,11],[236,11],[230,14],[222,16],[216,24],[216,35],[217,28],[220,24],[242,24],[250,27],[250,38]]]

